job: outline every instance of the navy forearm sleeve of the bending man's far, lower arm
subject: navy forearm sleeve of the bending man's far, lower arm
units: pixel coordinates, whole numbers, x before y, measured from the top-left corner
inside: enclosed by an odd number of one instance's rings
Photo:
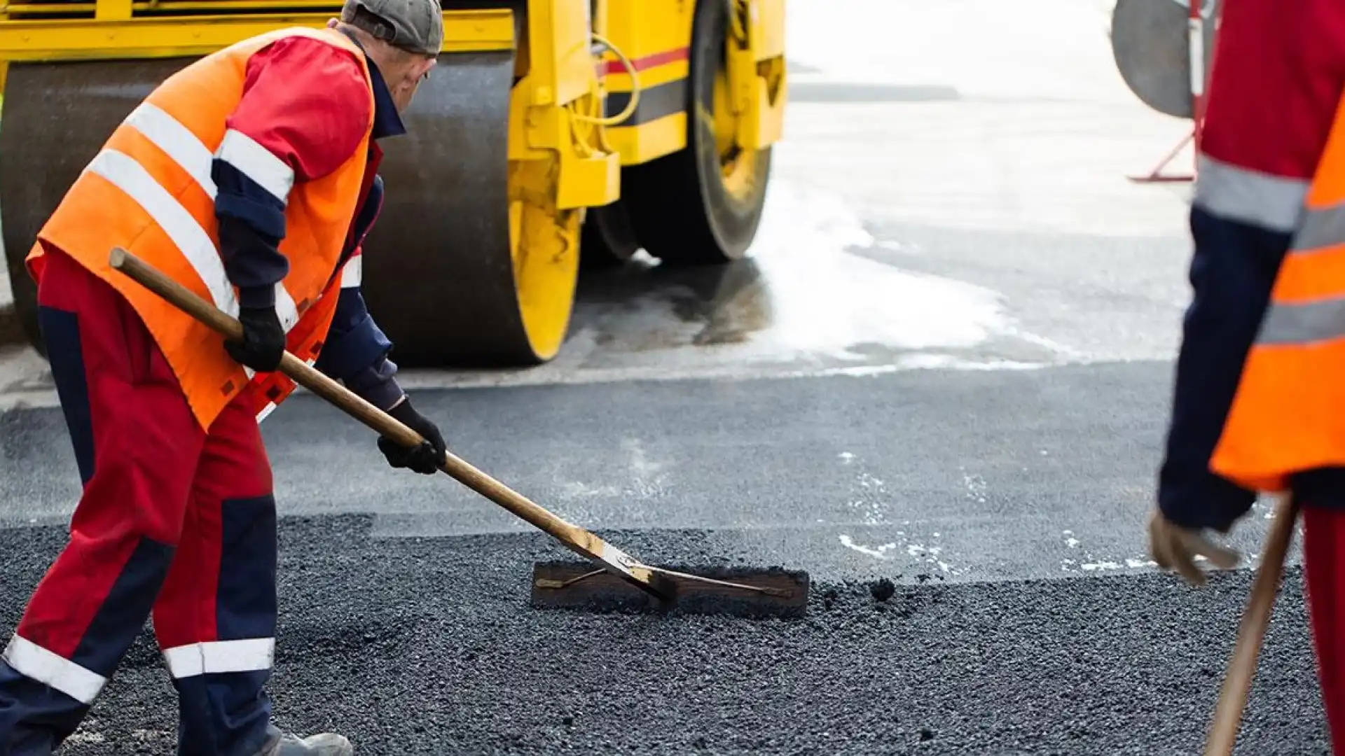
[[[358,287],[340,291],[327,342],[313,367],[356,393],[378,409],[402,397],[397,363],[387,359],[393,343],[374,323]]]

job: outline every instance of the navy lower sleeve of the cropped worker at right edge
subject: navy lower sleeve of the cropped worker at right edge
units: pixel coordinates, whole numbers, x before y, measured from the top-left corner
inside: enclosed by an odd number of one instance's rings
[[[1291,235],[1190,210],[1193,297],[1182,320],[1158,507],[1184,527],[1227,533],[1256,494],[1210,472],[1243,363]]]

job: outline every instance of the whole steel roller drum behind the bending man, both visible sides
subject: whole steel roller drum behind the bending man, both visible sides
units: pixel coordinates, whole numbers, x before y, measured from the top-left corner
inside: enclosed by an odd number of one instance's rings
[[[11,66],[0,226],[39,348],[23,264],[38,230],[116,126],[194,59]],[[516,83],[514,51],[441,55],[402,114],[408,133],[381,143],[386,194],[364,243],[363,293],[402,365],[535,365],[564,342],[580,213],[554,207],[554,157],[508,159]]]

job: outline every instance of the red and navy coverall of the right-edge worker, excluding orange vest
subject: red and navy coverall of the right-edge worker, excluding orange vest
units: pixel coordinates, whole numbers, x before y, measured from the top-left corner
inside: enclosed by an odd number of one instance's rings
[[[1228,531],[1255,494],[1209,469],[1293,226],[1345,90],[1345,4],[1237,0],[1223,8],[1190,209],[1193,299],[1177,358],[1158,506]],[[1298,475],[1322,694],[1345,748],[1345,471]]]

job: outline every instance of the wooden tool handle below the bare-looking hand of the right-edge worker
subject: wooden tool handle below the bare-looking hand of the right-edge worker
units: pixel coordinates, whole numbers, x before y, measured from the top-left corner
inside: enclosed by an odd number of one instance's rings
[[[1247,611],[1237,627],[1237,643],[1233,658],[1228,662],[1223,690],[1219,691],[1219,708],[1209,728],[1205,743],[1205,756],[1231,756],[1237,740],[1247,694],[1256,674],[1256,656],[1260,652],[1266,627],[1270,624],[1270,611],[1275,604],[1280,576],[1284,573],[1284,556],[1294,539],[1294,525],[1298,522],[1298,503],[1293,495],[1283,496],[1275,506],[1275,521],[1262,553],[1260,569],[1252,584]]]

